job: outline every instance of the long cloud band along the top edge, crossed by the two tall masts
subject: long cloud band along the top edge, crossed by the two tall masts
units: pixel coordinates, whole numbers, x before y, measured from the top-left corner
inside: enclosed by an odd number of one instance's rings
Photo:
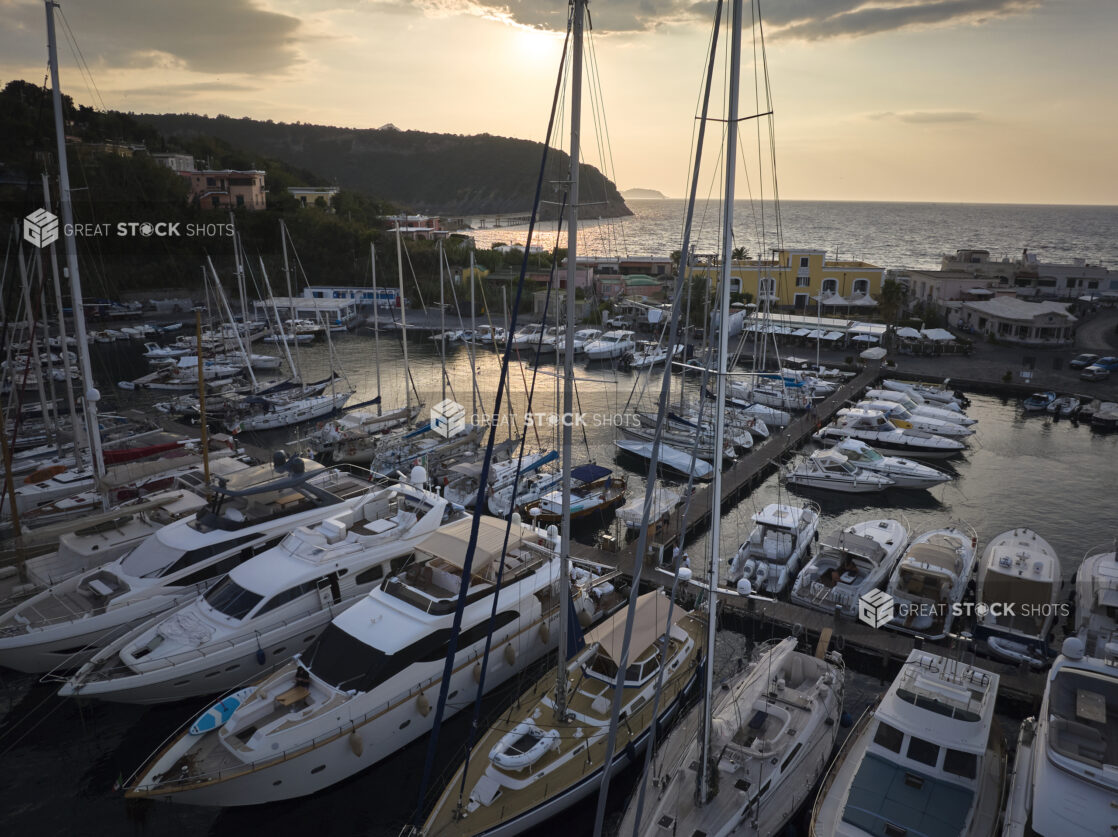
[[[377,1],[377,0],[375,0]],[[380,0],[399,6],[400,0]],[[764,8],[773,37],[821,40],[913,26],[975,23],[1017,15],[1043,0],[780,0]],[[467,13],[539,29],[562,30],[567,8],[540,0],[417,0],[428,15]],[[603,0],[589,6],[598,32],[648,31],[710,20],[710,0]],[[749,12],[746,11],[748,19]]]

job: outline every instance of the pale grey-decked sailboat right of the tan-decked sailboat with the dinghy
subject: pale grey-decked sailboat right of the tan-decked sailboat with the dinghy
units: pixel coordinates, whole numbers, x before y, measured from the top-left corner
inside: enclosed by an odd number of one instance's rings
[[[643,807],[629,800],[618,834],[776,835],[803,805],[831,758],[842,711],[842,657],[770,640],[721,685],[711,723],[711,798],[695,803],[702,704],[656,749]],[[639,821],[638,821],[639,820]]]

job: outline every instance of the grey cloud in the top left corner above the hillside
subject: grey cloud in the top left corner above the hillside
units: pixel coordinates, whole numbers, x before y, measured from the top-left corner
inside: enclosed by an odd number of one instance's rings
[[[56,15],[59,55],[72,65],[69,32],[94,69],[173,67],[215,75],[276,74],[299,63],[299,18],[254,0],[88,0]],[[46,64],[41,2],[0,0],[6,63]]]

